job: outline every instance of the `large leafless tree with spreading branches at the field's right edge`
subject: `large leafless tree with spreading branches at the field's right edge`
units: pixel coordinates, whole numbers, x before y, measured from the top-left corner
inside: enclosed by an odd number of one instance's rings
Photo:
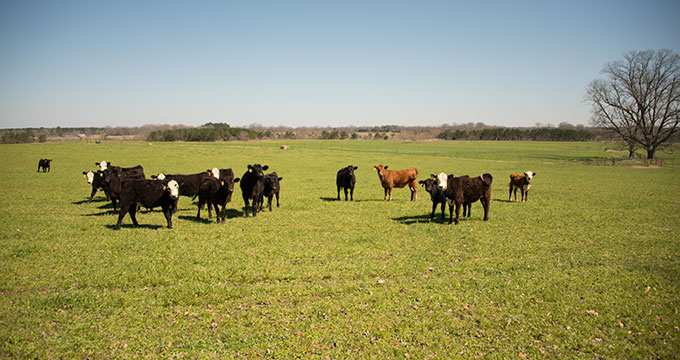
[[[588,86],[592,123],[614,130],[634,152],[653,159],[680,129],[680,55],[671,50],[631,51],[605,65],[606,79]]]

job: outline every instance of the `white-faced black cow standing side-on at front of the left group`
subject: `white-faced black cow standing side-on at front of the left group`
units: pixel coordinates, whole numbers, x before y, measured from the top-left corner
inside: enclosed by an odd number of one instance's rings
[[[173,209],[177,207],[177,198],[179,197],[179,184],[177,181],[155,181],[146,179],[126,179],[122,183],[120,192],[120,212],[118,213],[118,222],[116,223],[116,230],[120,230],[120,225],[126,213],[130,213],[130,219],[135,226],[137,223],[137,204],[141,204],[146,208],[154,208],[160,206],[163,209],[163,215],[168,222],[168,229],[172,229],[172,213]]]

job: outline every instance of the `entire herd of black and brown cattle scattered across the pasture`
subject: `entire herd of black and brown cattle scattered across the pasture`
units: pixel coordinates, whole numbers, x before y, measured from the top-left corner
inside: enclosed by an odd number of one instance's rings
[[[40,159],[38,171],[47,168],[49,171],[51,160]],[[123,218],[130,214],[132,223],[138,226],[136,211],[138,206],[148,209],[160,207],[167,220],[168,228],[172,228],[172,214],[177,211],[179,196],[187,196],[193,199],[198,197],[198,211],[196,217],[201,217],[201,209],[207,205],[208,218],[212,220],[212,210],[218,223],[224,223],[226,219],[226,206],[231,201],[234,184],[239,183],[243,201],[245,204],[245,216],[257,216],[264,206],[264,198],[268,199],[267,207],[272,211],[273,198],[276,197],[276,206],[279,207],[280,181],[276,172],[264,173],[268,170],[267,165],[248,165],[246,172],[241,178],[235,177],[232,169],[209,169],[198,174],[158,174],[146,179],[141,165],[130,168],[113,166],[110,162],[102,161],[95,163],[96,171],[83,171],[83,176],[92,185],[92,192],[88,202],[92,201],[97,191],[103,191],[106,199],[113,203],[114,211],[117,210],[117,202],[120,202],[118,222],[116,229],[120,229]],[[354,187],[356,177],[354,170],[358,167],[349,165],[337,172],[336,185],[338,190],[337,199],[340,200],[340,191],[344,190],[345,201],[354,200]],[[484,209],[484,221],[489,219],[489,203],[491,201],[491,174],[485,173],[477,177],[454,176],[453,174],[439,173],[430,174],[430,177],[418,181],[418,170],[409,168],[403,170],[390,170],[387,165],[373,167],[378,173],[380,184],[385,190],[384,200],[392,200],[392,189],[403,188],[408,185],[411,190],[411,201],[418,199],[418,185],[422,185],[430,194],[432,200],[432,213],[434,215],[438,206],[441,205],[442,220],[445,219],[445,206],[449,204],[449,224],[459,223],[460,209],[463,208],[463,217],[470,217],[472,203],[479,200]],[[527,201],[529,189],[536,173],[527,171],[524,174],[511,174],[508,200],[512,201],[514,193],[517,201],[517,190],[521,191],[520,201]],[[348,199],[349,195],[349,199]],[[455,206],[456,217],[453,218]],[[221,207],[221,208],[220,208]]]

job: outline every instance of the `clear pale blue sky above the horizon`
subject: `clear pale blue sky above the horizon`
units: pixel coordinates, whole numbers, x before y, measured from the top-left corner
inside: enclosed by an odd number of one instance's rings
[[[680,1],[0,1],[0,128],[588,124]]]

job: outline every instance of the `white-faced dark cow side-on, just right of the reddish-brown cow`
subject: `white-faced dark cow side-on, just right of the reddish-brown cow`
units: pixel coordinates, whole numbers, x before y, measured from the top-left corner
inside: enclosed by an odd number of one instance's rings
[[[445,180],[444,180],[445,179]],[[456,205],[456,225],[460,216],[460,206],[465,203],[472,204],[479,200],[484,208],[484,221],[489,220],[489,204],[491,202],[491,174],[483,174],[476,178],[468,176],[454,177],[450,174],[446,177],[438,177],[437,185],[446,194],[449,203],[449,224],[453,222],[453,205]]]

